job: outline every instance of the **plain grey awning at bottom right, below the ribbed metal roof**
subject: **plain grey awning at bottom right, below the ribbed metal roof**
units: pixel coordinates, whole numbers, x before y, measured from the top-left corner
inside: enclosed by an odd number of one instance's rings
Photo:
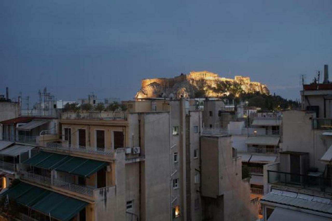
[[[301,221],[328,221],[331,218],[313,215],[305,212],[276,207],[270,215],[268,221],[279,220],[301,220]]]

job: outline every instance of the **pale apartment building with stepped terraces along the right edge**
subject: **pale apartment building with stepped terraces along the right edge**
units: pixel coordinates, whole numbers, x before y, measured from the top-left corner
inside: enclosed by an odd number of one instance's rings
[[[280,160],[264,165],[264,220],[332,218],[332,88],[326,70],[324,77],[323,84],[303,85],[301,111],[283,112]]]

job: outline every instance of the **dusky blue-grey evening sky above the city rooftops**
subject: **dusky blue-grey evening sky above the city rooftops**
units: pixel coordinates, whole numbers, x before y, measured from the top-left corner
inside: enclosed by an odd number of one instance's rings
[[[129,100],[143,78],[207,70],[299,99],[301,75],[332,74],[331,40],[330,0],[0,1],[0,94]]]

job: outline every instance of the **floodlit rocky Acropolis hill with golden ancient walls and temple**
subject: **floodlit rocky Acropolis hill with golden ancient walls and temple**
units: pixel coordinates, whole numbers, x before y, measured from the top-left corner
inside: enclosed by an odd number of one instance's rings
[[[143,79],[142,88],[136,93],[142,98],[186,98],[221,97],[241,93],[269,94],[269,89],[260,82],[251,82],[249,77],[235,76],[234,79],[219,77],[208,71],[191,71],[174,78]]]

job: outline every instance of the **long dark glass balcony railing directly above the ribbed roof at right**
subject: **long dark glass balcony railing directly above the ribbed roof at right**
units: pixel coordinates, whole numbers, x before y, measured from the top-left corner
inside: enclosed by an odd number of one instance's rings
[[[331,178],[268,170],[268,183],[332,193]]]

